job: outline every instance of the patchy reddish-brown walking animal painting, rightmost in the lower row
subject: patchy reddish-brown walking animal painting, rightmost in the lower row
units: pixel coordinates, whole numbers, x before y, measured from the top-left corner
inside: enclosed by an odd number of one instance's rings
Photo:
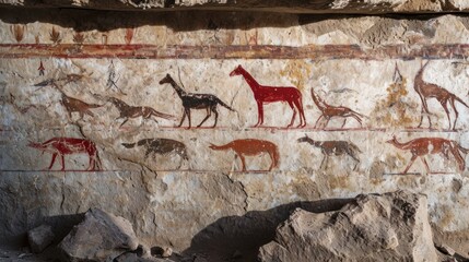
[[[442,138],[421,138],[414,139],[407,143],[400,143],[396,136],[392,136],[391,140],[386,141],[399,150],[410,151],[412,157],[410,158],[410,163],[407,165],[406,169],[402,174],[407,174],[409,168],[415,162],[417,157],[420,157],[425,165],[426,172],[431,174],[429,164],[426,163],[425,155],[429,154],[443,154],[446,159],[449,159],[449,153],[455,157],[459,171],[464,171],[466,168],[465,158],[462,158],[460,152],[464,154],[469,153],[469,150],[460,146],[456,141],[446,140]]]

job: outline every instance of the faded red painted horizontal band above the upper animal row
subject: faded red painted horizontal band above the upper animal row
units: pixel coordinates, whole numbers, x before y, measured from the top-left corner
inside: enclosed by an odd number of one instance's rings
[[[389,45],[362,48],[357,45],[309,46],[156,46],[0,44],[0,58],[121,58],[121,59],[464,59],[468,44],[421,46]]]

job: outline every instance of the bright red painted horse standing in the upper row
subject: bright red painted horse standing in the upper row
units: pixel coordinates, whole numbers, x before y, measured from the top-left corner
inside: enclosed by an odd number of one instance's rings
[[[296,110],[300,111],[300,124],[298,128],[306,126],[306,118],[303,111],[302,93],[293,86],[267,86],[260,85],[241,64],[237,66],[231,73],[230,76],[243,75],[246,83],[249,85],[254,93],[254,98],[257,103],[257,123],[255,127],[259,127],[263,123],[263,104],[272,102],[286,102],[293,110],[292,120],[288,128],[291,128],[295,121]],[[295,109],[296,108],[296,109]]]

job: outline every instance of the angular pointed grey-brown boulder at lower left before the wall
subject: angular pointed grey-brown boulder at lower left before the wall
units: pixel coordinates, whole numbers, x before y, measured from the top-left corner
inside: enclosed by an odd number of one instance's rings
[[[84,221],[60,242],[59,249],[65,261],[113,261],[138,246],[129,221],[91,209]]]

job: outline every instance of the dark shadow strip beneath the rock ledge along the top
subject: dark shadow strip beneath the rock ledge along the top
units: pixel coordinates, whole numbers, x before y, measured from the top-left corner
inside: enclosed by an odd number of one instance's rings
[[[298,3],[298,5],[301,5]],[[455,14],[460,17],[469,17],[465,14]],[[290,13],[262,13],[253,11],[103,11],[81,9],[0,9],[1,21],[9,24],[49,23],[62,27],[71,27],[75,32],[96,29],[108,32],[112,29],[140,27],[144,25],[165,25],[174,32],[194,32],[200,29],[251,29],[259,27],[286,28],[296,25],[305,25],[330,19],[347,20],[361,17],[357,14],[290,14]],[[373,15],[367,15],[373,16]],[[375,15],[388,17],[392,21],[409,20],[409,16]],[[425,21],[437,17],[436,14],[413,15],[411,28],[419,29]],[[389,23],[384,20],[386,26]],[[331,28],[333,29],[333,28]],[[426,35],[426,34],[425,34]]]

